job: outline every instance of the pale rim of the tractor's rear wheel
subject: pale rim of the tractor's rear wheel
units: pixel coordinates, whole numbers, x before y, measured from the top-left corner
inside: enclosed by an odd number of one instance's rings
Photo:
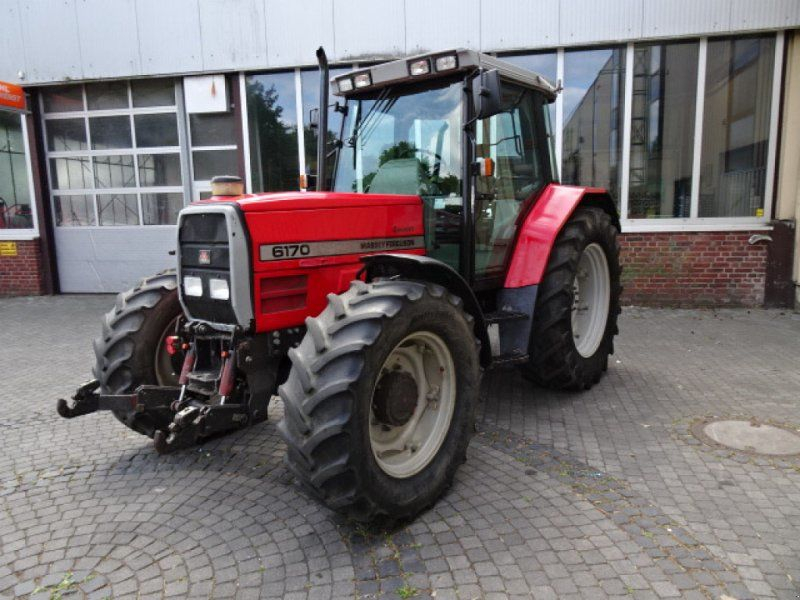
[[[572,290],[572,338],[578,354],[589,358],[603,341],[611,302],[608,259],[600,244],[584,248]]]

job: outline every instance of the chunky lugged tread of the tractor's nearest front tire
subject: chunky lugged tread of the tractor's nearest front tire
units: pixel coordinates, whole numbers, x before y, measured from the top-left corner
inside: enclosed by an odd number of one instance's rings
[[[353,408],[364,353],[376,342],[387,321],[424,294],[446,296],[461,308],[461,299],[445,288],[407,280],[354,281],[343,294],[330,294],[328,307],[308,320],[309,335],[289,353],[292,369],[278,388],[284,404],[278,429],[288,446],[287,466],[313,496],[357,521],[401,519],[426,508],[390,515],[379,506],[359,481],[360,475],[351,464],[349,443],[351,431],[358,425]],[[471,325],[472,318],[463,314]],[[463,441],[447,472],[445,489],[451,485],[457,466],[466,459],[468,441]]]

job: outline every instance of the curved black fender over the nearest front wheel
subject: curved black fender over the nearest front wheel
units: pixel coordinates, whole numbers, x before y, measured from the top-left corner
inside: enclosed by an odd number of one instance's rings
[[[486,319],[472,288],[456,270],[435,258],[414,254],[372,254],[361,260],[365,265],[367,281],[375,277],[400,275],[404,279],[430,281],[441,285],[461,298],[464,310],[475,319],[475,335],[481,342],[481,365],[488,367],[491,364],[492,350],[486,331]]]

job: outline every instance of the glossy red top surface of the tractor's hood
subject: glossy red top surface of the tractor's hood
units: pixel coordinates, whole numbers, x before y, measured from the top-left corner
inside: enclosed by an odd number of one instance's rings
[[[266,210],[311,210],[358,206],[401,206],[422,202],[419,196],[399,194],[355,194],[347,192],[274,192],[270,194],[246,194],[231,198],[216,196],[196,204],[237,202],[244,212]]]

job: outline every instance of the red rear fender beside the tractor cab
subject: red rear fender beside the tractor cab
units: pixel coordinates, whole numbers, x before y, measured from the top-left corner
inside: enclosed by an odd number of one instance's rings
[[[604,189],[551,183],[525,217],[506,274],[506,288],[538,285],[544,276],[550,251],[564,224],[578,206],[602,208],[617,230],[619,215]]]

